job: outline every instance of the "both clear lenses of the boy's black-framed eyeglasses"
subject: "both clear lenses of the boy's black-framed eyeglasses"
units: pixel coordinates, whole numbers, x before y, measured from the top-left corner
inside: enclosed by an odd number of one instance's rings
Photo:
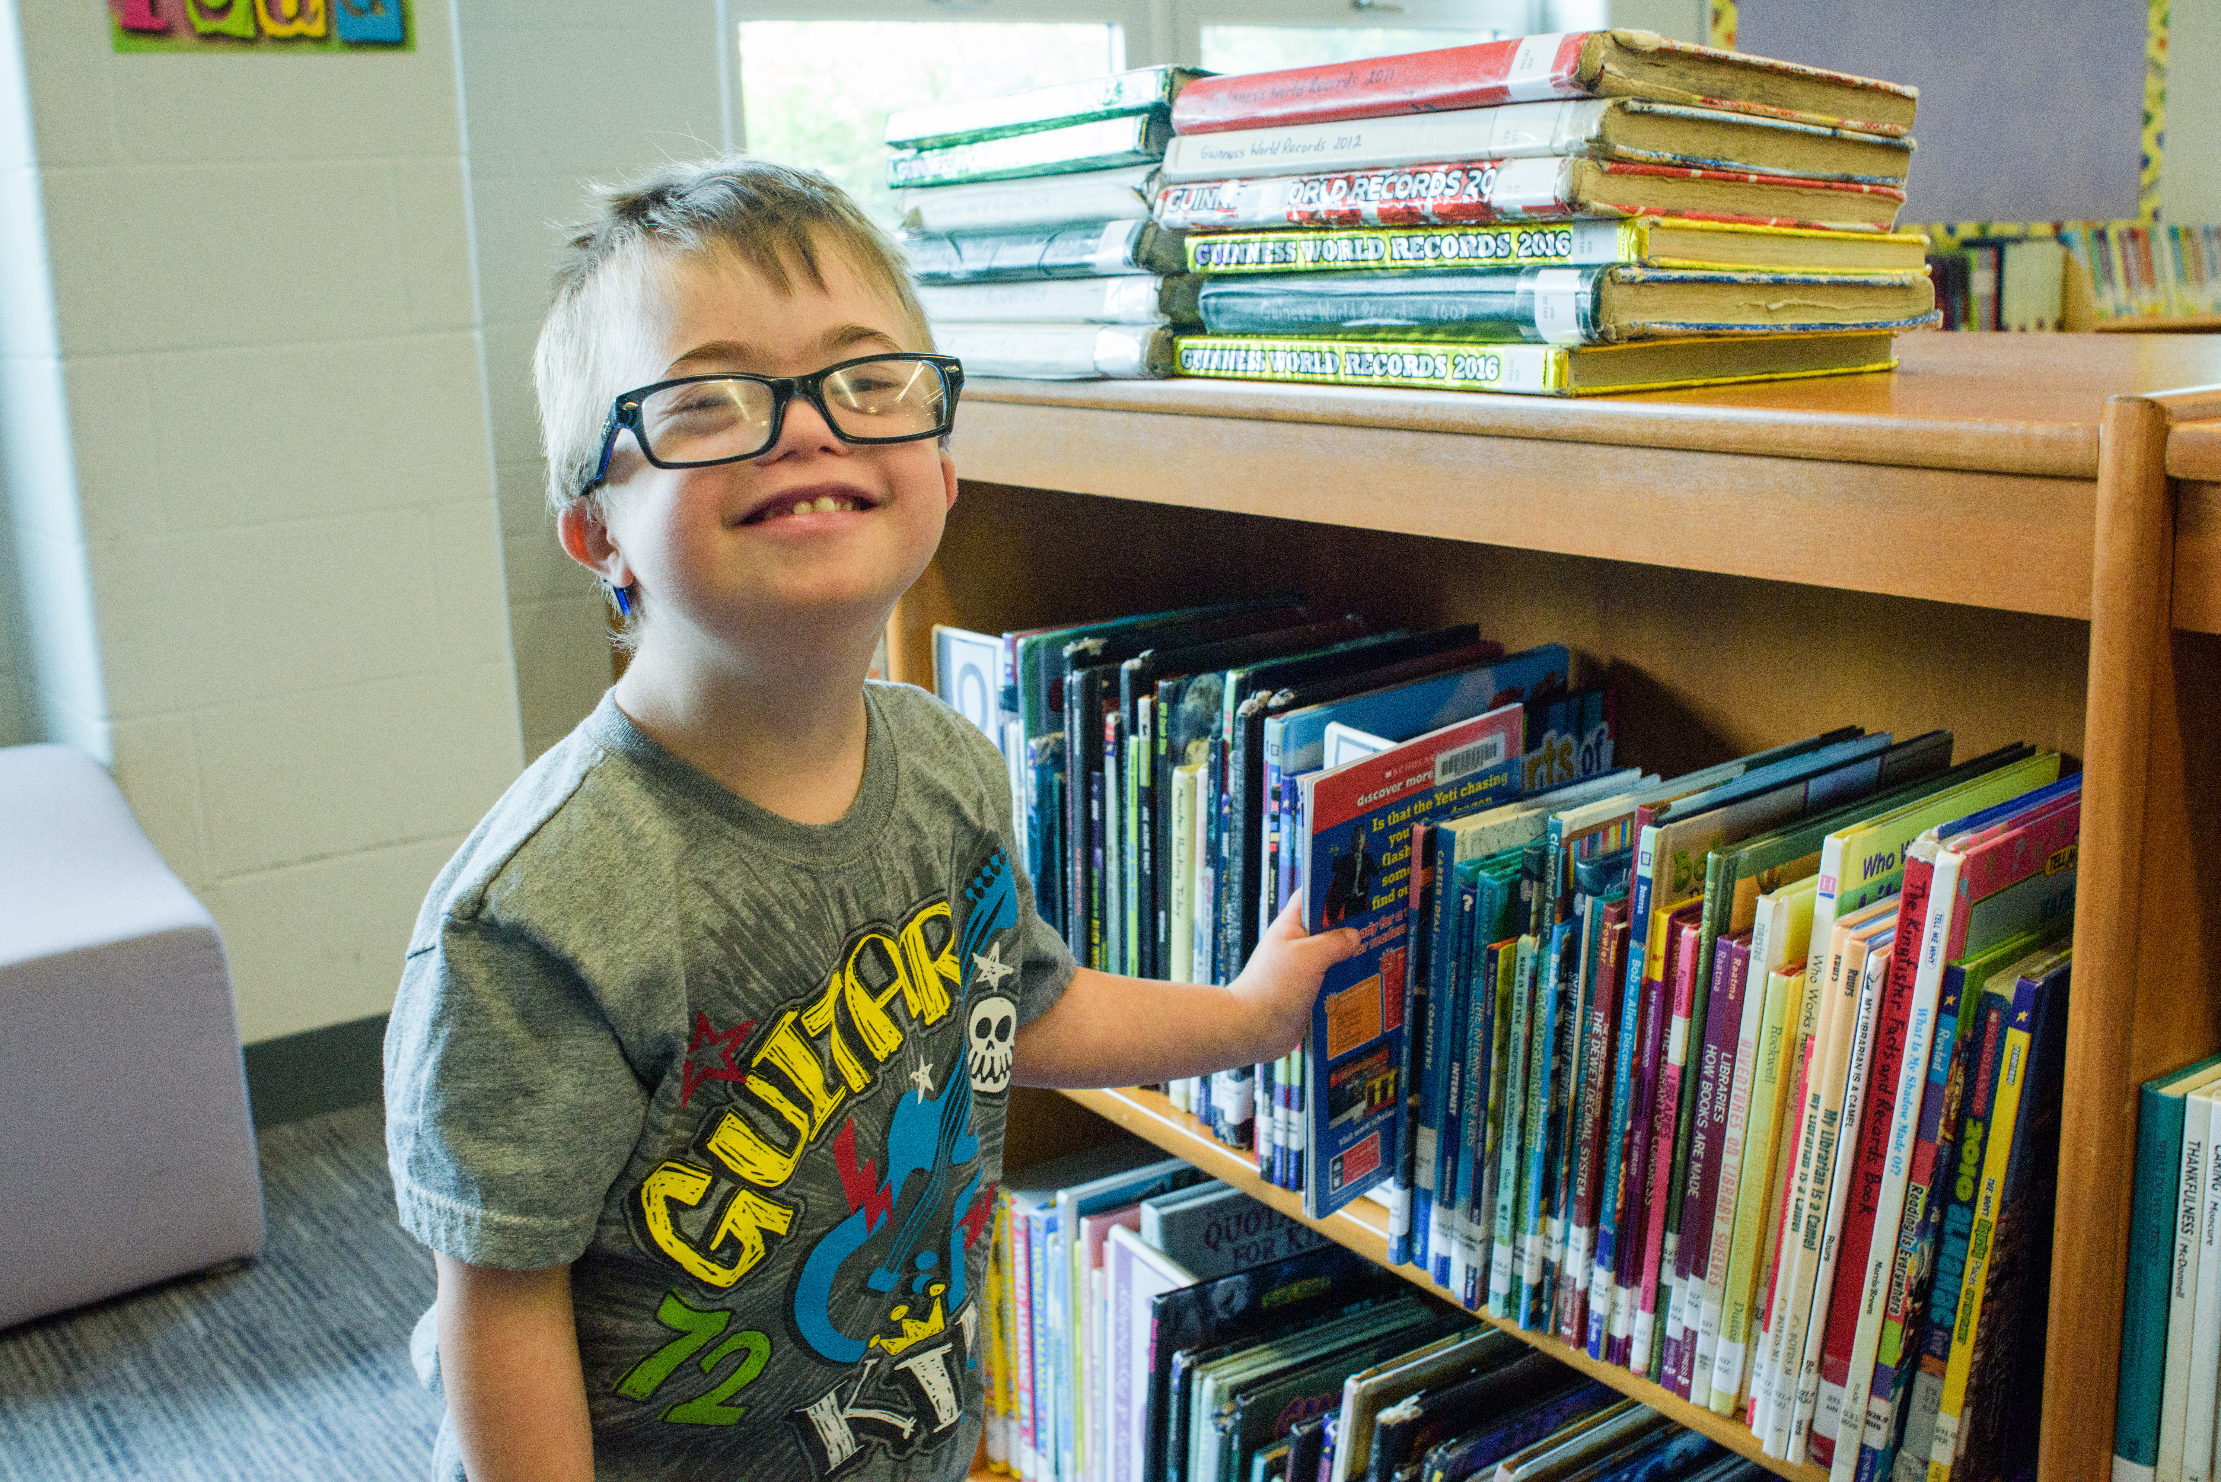
[[[922,438],[939,431],[948,393],[919,360],[864,360],[820,384],[842,438]],[[748,458],[771,444],[771,387],[757,380],[693,380],[664,387],[640,407],[640,431],[660,462]]]

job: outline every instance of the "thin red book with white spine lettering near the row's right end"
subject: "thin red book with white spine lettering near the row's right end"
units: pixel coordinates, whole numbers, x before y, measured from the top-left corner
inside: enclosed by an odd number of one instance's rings
[[[1859,1335],[1859,1304],[1866,1289],[1866,1255],[1875,1242],[1875,1206],[1881,1200],[1881,1173],[1890,1155],[1890,1118],[1897,1113],[1897,1073],[1906,1062],[1906,1035],[1912,1020],[1912,978],[1921,964],[1921,938],[1928,931],[1928,882],[1934,860],[1908,858],[1906,880],[1897,895],[1897,938],[1890,942],[1890,975],[1875,1015],[1875,1060],[1866,1080],[1866,1104],[1859,1109],[1859,1131],[1848,1144],[1857,1162],[1850,1169],[1850,1204],[1843,1211],[1843,1238],[1835,1255],[1835,1286],[1828,1293],[1828,1326],[1819,1351],[1819,1406],[1806,1451],[1819,1464],[1835,1462],[1837,1420],[1843,1413],[1843,1380],[1850,1378],[1850,1346]],[[1897,1231],[1890,1231],[1890,1240]],[[1835,1413],[1828,1413],[1828,1402]],[[1859,1418],[1863,1429],[1866,1418]]]

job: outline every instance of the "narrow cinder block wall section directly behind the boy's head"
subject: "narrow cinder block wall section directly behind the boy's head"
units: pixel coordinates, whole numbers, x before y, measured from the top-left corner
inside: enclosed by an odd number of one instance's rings
[[[731,149],[737,33],[722,0],[462,0],[486,378],[524,753],[609,687],[602,598],[555,544],[533,418],[533,338],[557,224],[582,182]]]

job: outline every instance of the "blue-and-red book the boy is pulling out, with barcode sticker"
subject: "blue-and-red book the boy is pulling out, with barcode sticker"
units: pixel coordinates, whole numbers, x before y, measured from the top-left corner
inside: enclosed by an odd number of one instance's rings
[[[1326,969],[1304,1040],[1304,1213],[1324,1218],[1397,1169],[1406,1126],[1406,958],[1413,824],[1519,793],[1526,707],[1470,720],[1302,780],[1304,927],[1359,935]]]

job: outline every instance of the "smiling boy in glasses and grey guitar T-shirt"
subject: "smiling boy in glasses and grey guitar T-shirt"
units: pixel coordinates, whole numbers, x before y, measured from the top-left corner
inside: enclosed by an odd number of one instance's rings
[[[864,684],[957,495],[926,347],[815,176],[673,164],[569,242],[549,493],[633,658],[442,871],[393,1007],[440,1478],[962,1478],[1008,1087],[1279,1055],[1355,947],[1284,915],[1228,989],[1075,969],[1002,758]]]

